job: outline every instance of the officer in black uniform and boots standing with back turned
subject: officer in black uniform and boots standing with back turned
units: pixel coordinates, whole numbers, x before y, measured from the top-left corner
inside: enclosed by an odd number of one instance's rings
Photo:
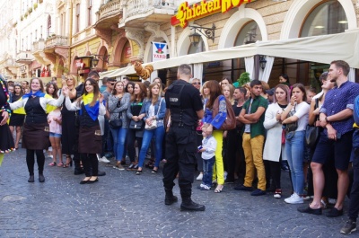
[[[166,192],[164,204],[171,205],[178,199],[172,189],[179,173],[181,210],[204,211],[204,205],[192,201],[192,183],[195,176],[197,153],[196,127],[203,118],[203,104],[198,90],[189,84],[191,68],[180,65],[177,78],[166,91],[166,107],[171,111],[171,127],[166,135],[166,159],[163,167],[163,186]]]

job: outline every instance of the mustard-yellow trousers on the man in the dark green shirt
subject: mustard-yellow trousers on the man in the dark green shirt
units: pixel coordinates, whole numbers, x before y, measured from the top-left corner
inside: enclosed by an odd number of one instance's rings
[[[258,175],[258,189],[266,190],[266,171],[263,163],[264,137],[250,138],[250,134],[243,134],[243,151],[246,160],[246,176],[244,186],[251,187],[254,180],[255,169]]]

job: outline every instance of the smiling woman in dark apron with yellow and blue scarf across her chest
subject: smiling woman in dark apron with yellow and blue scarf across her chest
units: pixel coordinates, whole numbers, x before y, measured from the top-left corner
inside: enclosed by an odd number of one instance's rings
[[[99,85],[92,78],[87,78],[84,82],[83,96],[74,102],[70,101],[67,88],[64,88],[63,92],[66,95],[65,105],[67,110],[80,110],[78,152],[81,154],[83,170],[86,176],[80,184],[99,181],[97,178],[99,162],[96,154],[101,153],[102,138],[98,117],[106,113]]]

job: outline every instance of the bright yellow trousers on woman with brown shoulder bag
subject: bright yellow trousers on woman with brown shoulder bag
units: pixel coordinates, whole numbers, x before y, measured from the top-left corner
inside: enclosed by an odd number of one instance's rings
[[[215,166],[213,169],[213,180],[217,180],[218,184],[224,184],[224,168],[223,168],[223,130],[214,130],[212,136],[217,141],[215,148]]]

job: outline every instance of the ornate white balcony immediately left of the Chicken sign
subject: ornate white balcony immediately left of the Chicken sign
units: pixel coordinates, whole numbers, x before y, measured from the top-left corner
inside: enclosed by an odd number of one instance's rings
[[[170,21],[175,9],[174,0],[128,0],[119,26],[139,27],[144,22]]]

